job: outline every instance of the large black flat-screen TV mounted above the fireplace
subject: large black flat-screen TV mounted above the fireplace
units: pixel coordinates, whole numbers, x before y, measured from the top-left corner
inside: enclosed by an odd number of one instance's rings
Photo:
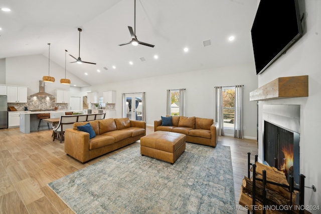
[[[251,30],[257,75],[302,36],[297,1],[260,1]]]

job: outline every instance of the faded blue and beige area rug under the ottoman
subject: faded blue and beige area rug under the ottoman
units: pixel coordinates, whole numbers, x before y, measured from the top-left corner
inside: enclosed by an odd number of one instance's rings
[[[136,143],[48,185],[76,213],[235,213],[228,146],[186,143],[172,165]]]

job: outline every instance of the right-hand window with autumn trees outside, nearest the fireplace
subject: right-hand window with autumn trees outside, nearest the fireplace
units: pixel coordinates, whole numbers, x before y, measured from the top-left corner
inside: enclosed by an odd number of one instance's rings
[[[234,129],[235,116],[235,88],[223,87],[223,121],[224,128]]]

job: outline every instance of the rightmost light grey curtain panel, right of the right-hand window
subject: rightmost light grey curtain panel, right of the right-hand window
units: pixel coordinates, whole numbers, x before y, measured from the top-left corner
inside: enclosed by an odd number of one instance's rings
[[[243,86],[235,86],[234,137],[243,138]]]

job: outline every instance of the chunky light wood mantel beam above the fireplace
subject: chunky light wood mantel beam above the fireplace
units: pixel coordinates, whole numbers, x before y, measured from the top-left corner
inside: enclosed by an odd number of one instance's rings
[[[307,97],[308,76],[280,77],[250,92],[250,101]]]

